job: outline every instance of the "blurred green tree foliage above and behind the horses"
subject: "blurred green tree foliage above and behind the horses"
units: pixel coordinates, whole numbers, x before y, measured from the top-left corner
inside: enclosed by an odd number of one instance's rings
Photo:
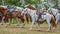
[[[0,5],[15,5],[23,7],[26,4],[32,4],[36,8],[60,7],[60,0],[0,0]]]

